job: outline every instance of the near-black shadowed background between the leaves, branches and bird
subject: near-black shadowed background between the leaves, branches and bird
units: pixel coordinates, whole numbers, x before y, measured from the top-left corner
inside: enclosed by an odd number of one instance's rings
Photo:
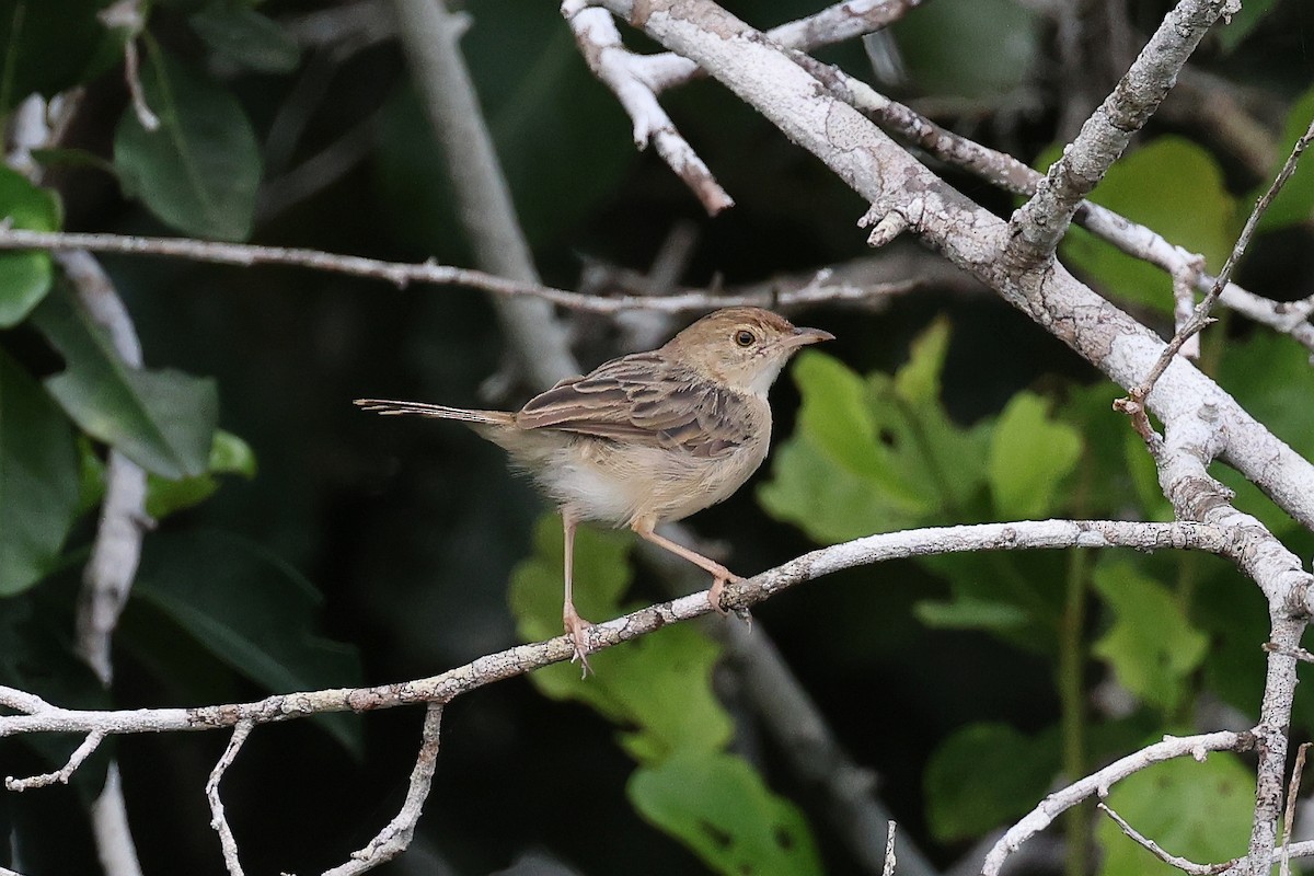
[[[449,185],[396,42],[353,53],[302,49],[292,68],[252,71],[204,43],[191,21],[223,5],[162,0],[150,11],[148,33],[230,89],[254,125],[264,185],[250,239],[468,264]],[[729,5],[761,25],[812,11],[796,0]],[[1071,135],[1060,130],[1071,104],[1085,95],[1101,97],[1121,70],[1113,62],[1092,63],[1084,91],[1072,93],[1055,49],[1055,22],[1037,5],[936,0],[912,12],[894,29],[908,79],[892,91],[955,130],[1035,159]],[[1126,4],[1138,34],[1133,47],[1168,5]],[[1276,147],[1286,113],[1314,79],[1314,14],[1298,0],[1259,5],[1264,8],[1254,13],[1243,41],[1212,38],[1196,63],[1223,77],[1219,93],[1235,97]],[[286,24],[330,7],[269,0],[256,8]],[[0,12],[8,16],[8,8]],[[1063,9],[1058,14],[1071,14]],[[369,14],[386,12],[377,7]],[[737,201],[710,219],[653,154],[635,151],[628,120],[589,75],[555,4],[473,0],[468,12],[473,26],[463,45],[545,282],[573,286],[586,261],[643,271],[682,223],[698,235],[682,277],[689,285],[759,281],[867,255],[865,234],[854,227],[865,205],[716,83],[698,81],[665,97],[681,130]],[[1089,26],[1087,37],[1097,45],[1099,25]],[[857,45],[821,55],[858,75],[870,71]],[[101,70],[92,66],[95,75],[87,74],[88,91],[66,144],[108,159],[127,96],[113,53]],[[67,75],[54,81],[63,87]],[[1210,100],[1208,88],[1202,100]],[[1166,109],[1141,146],[1167,135],[1202,146],[1221,171],[1223,192],[1243,198],[1267,168],[1247,163],[1235,141],[1200,118]],[[305,197],[289,197],[280,185],[285,173],[325,148],[346,156],[346,169],[317,180]],[[1012,209],[1008,196],[945,172],[997,213]],[[67,230],[175,232],[97,167],[60,165],[49,181],[63,200]],[[1307,222],[1276,230],[1257,242],[1239,281],[1275,297],[1310,294],[1310,243]],[[240,436],[258,464],[255,477],[225,477],[210,499],[170,515],[147,536],[147,584],[187,574],[170,562],[171,552],[201,544],[209,545],[204,556],[210,565],[197,563],[191,573],[219,579],[231,556],[222,540],[252,542],[322,595],[319,629],[356,649],[365,683],[436,674],[518,641],[507,580],[532,550],[543,503],[507,473],[495,448],[465,429],[381,420],[350,403],[359,397],[520,403],[531,387],[514,381],[495,398],[481,393],[506,365],[487,299],[459,289],[398,290],[289,268],[102,261],[133,314],[146,364],[213,376],[219,426]],[[1130,306],[1168,324],[1143,303]],[[879,311],[817,307],[798,314],[805,324],[833,331],[838,340],[827,352],[858,373],[899,368],[937,317],[951,324],[942,398],[958,426],[995,416],[1018,390],[1066,398],[1096,378],[1024,315],[986,294],[930,292]],[[608,319],[568,318],[586,366],[624,352]],[[671,331],[678,327],[670,324]],[[1240,340],[1254,331],[1223,328]],[[59,368],[59,357],[28,323],[0,331],[0,347],[35,376]],[[773,402],[779,443],[794,431],[798,389],[782,380]],[[1110,419],[1101,428],[1125,427]],[[741,574],[816,544],[763,511],[757,496],[767,479],[763,469],[729,502],[692,521],[702,537],[725,546]],[[39,637],[32,634],[33,624],[49,634],[42,641],[51,653],[67,646],[93,524],[92,515],[80,519],[60,566],[39,586],[0,600],[0,629],[21,624],[26,630],[11,640],[14,647],[34,647],[30,642]],[[632,592],[643,600],[664,598],[641,563]],[[924,775],[932,754],[970,722],[1003,722],[1033,734],[1054,725],[1060,712],[1051,654],[1010,646],[983,630],[933,629],[915,617],[915,603],[949,596],[945,579],[926,567],[888,563],[787,594],[756,612],[754,621],[754,629],[778,642],[853,758],[879,775],[879,795],[904,835],[938,865],[953,863],[970,843],[938,841],[928,825]],[[231,609],[235,617],[272,611],[242,599]],[[1093,613],[1088,630],[1095,634],[1101,624],[1106,621]],[[205,704],[267,692],[217,661],[194,630],[180,628],[146,596],[129,603],[116,642],[109,697],[117,707]],[[39,665],[66,690],[95,690],[71,658],[24,651],[21,659]],[[1092,686],[1105,674],[1093,661],[1084,672]],[[360,847],[401,804],[419,722],[418,711],[397,711],[339,728],[357,741],[355,750],[315,722],[258,732],[225,784],[248,872],[314,872]],[[815,809],[815,793],[778,768],[779,753],[752,720],[746,725],[742,750],[754,753],[773,789],[808,813],[827,869],[855,872]],[[1146,718],[1129,735],[1156,729],[1163,732]],[[491,872],[533,852],[587,873],[699,872],[703,864],[692,852],[629,805],[625,781],[633,763],[615,745],[615,733],[589,708],[545,699],[523,679],[463,697],[444,717],[423,835],[406,863],[386,872],[445,872],[427,855],[439,855],[455,872]],[[222,872],[201,789],[225,742],[219,734],[194,734],[114,745],[147,872]],[[45,753],[14,741],[0,746],[0,762],[7,775],[50,768]],[[21,838],[25,873],[95,872],[79,802],[95,775],[84,770],[68,789],[0,796],[0,825],[8,825],[5,835]]]

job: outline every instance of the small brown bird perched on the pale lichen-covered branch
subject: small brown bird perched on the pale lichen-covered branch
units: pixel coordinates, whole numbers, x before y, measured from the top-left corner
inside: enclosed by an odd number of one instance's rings
[[[729,498],[748,481],[771,441],[771,383],[800,347],[833,339],[820,328],[795,328],[769,310],[727,307],[658,349],[568,377],[514,414],[372,398],[356,405],[461,420],[533,474],[561,512],[561,619],[574,640],[572,659],[587,670],[590,624],[572,598],[576,525],[629,527],[706,569],[712,575],[708,599],[724,613],[721,590],[738,575],[656,528]]]

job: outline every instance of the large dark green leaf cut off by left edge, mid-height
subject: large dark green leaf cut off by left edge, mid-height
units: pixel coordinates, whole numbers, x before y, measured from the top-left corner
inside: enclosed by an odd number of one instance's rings
[[[0,349],[0,596],[55,566],[78,514],[78,483],[68,420]]]

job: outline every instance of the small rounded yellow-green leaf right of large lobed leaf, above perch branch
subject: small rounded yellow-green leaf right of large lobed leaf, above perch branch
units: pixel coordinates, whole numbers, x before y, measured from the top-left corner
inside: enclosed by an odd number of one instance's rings
[[[1063,478],[1081,456],[1081,436],[1049,418],[1049,403],[1018,393],[1004,408],[991,435],[987,471],[1001,517],[1039,519],[1056,508]]]

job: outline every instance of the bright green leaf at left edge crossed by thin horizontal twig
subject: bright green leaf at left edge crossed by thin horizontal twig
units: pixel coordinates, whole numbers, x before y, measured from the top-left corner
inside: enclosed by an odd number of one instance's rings
[[[62,218],[59,198],[17,171],[0,167],[0,217],[16,229],[57,231]],[[49,252],[0,255],[0,328],[28,318],[50,290],[51,272]]]

